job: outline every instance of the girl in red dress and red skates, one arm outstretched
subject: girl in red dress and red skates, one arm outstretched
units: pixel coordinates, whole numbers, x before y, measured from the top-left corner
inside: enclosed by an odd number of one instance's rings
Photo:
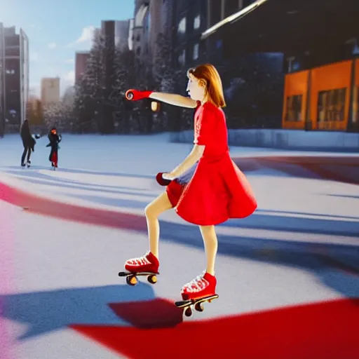
[[[175,208],[180,217],[199,226],[207,257],[205,271],[182,287],[184,300],[215,294],[215,225],[230,218],[248,217],[257,208],[250,183],[229,155],[226,117],[222,110],[226,103],[217,69],[210,64],[199,65],[189,69],[187,76],[189,97],[133,89],[126,92],[128,100],[149,97],[196,109],[191,153],[171,172],[159,174],[162,178],[158,177],[158,182],[167,181],[166,189],[145,208],[149,252],[125,263],[125,269],[132,273],[158,273],[158,216]]]

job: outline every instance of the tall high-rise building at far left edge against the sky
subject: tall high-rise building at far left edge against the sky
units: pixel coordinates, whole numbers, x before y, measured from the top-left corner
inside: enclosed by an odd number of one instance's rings
[[[1,50],[2,49],[2,50]],[[1,58],[2,57],[2,58]],[[29,40],[20,29],[0,25],[1,133],[20,130],[29,98]]]

